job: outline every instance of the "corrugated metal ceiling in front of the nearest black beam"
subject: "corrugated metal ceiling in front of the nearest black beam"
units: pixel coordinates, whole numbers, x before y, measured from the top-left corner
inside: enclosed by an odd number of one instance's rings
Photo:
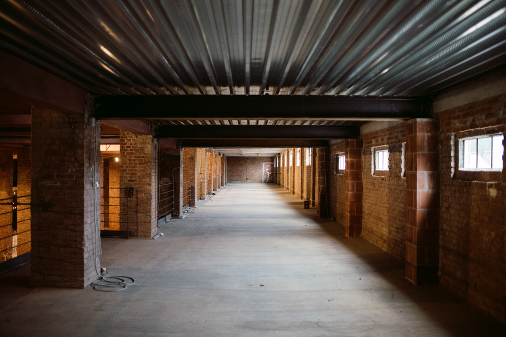
[[[0,3],[3,50],[99,94],[424,95],[505,37],[506,0]]]

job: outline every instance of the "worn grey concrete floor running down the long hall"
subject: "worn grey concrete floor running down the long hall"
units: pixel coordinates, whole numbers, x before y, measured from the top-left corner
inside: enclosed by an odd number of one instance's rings
[[[274,185],[229,185],[157,240],[103,239],[104,293],[0,277],[0,336],[506,336],[506,327]]]

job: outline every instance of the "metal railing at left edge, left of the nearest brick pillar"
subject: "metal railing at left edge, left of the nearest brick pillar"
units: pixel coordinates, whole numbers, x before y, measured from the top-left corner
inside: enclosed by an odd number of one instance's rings
[[[0,199],[0,262],[31,250],[30,201],[31,196]]]

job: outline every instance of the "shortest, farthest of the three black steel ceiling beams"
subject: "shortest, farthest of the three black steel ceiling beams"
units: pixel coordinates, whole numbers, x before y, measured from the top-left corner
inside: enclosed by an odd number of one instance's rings
[[[181,139],[183,148],[319,148],[328,140],[315,139]]]

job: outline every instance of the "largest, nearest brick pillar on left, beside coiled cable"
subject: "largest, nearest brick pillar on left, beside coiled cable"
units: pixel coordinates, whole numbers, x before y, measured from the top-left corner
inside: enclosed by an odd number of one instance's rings
[[[31,147],[31,283],[83,288],[100,268],[100,122],[32,108]]]

